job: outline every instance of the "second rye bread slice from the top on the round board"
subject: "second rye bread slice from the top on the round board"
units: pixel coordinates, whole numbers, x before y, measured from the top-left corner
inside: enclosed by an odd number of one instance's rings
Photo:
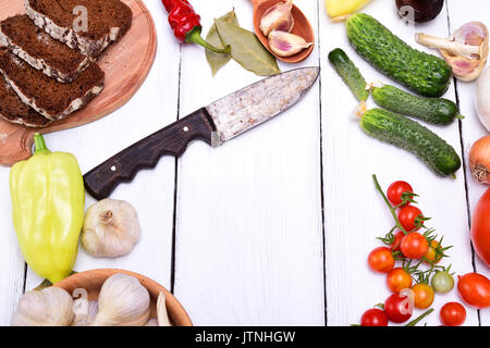
[[[88,66],[87,57],[53,39],[26,15],[0,23],[0,46],[61,83],[71,83]]]

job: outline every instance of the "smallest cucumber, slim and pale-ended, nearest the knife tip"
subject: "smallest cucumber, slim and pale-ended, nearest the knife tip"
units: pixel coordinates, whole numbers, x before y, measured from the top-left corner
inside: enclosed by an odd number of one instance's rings
[[[366,90],[366,79],[347,54],[342,49],[336,48],[329,53],[329,61],[357,100],[366,101],[369,98],[369,91]]]

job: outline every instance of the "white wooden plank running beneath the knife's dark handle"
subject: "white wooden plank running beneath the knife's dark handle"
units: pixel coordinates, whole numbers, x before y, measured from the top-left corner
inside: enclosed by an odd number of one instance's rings
[[[113,114],[93,124],[50,134],[52,150],[74,153],[85,173],[115,152],[176,120],[180,46],[158,1],[145,1],[158,32],[154,67],[142,88]],[[125,269],[145,274],[170,288],[175,160],[163,158],[152,171],[140,172],[131,184],[121,185],[111,198],[131,202],[138,212],[142,239],[126,257],[95,259],[79,248],[76,271],[99,268]],[[86,206],[95,200],[86,195]],[[27,289],[38,285],[30,271]]]

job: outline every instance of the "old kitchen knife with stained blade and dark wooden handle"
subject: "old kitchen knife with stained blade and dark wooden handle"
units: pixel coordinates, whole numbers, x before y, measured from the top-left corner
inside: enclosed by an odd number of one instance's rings
[[[192,140],[218,147],[295,104],[319,72],[319,67],[292,70],[201,108],[93,169],[84,175],[85,188],[100,200],[119,184],[131,182],[140,170],[155,167],[162,156],[180,157]]]

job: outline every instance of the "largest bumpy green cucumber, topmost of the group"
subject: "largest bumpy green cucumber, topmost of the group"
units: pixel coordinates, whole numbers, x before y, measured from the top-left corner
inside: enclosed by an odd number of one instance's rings
[[[354,49],[383,74],[426,97],[441,97],[451,83],[452,69],[441,58],[417,51],[377,20],[356,13],[346,21]]]

